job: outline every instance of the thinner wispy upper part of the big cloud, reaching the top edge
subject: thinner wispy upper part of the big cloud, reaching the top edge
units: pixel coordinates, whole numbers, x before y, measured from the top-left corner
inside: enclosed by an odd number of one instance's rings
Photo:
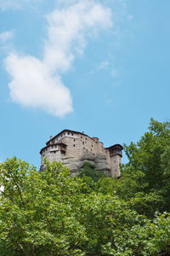
[[[48,15],[44,61],[52,70],[67,71],[76,53],[83,53],[89,33],[111,27],[111,10],[93,1],[79,1]]]

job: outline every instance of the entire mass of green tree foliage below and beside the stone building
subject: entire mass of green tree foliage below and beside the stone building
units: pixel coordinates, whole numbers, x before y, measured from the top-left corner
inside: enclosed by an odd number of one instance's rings
[[[169,148],[169,123],[151,119],[139,143],[125,146],[121,179],[70,177],[61,163],[47,161],[37,172],[6,160],[0,255],[169,255]],[[86,168],[90,176],[94,167]]]

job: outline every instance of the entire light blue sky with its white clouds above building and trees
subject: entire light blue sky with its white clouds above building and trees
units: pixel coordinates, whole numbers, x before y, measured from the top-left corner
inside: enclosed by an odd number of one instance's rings
[[[109,147],[169,120],[169,0],[0,0],[0,160],[70,129]],[[126,158],[124,157],[124,160]]]

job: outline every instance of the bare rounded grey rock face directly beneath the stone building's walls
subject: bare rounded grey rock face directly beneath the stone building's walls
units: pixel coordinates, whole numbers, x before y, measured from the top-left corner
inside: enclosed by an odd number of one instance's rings
[[[71,176],[78,175],[84,162],[89,162],[95,165],[95,171],[104,171],[107,176],[111,176],[110,167],[107,165],[106,157],[102,154],[85,153],[81,158],[64,158],[63,163],[71,171]]]

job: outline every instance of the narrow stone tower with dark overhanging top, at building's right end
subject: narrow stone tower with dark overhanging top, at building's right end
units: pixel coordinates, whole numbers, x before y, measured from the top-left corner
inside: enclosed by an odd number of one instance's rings
[[[108,149],[111,157],[111,177],[120,177],[121,171],[119,165],[122,159],[122,145],[115,144]]]

